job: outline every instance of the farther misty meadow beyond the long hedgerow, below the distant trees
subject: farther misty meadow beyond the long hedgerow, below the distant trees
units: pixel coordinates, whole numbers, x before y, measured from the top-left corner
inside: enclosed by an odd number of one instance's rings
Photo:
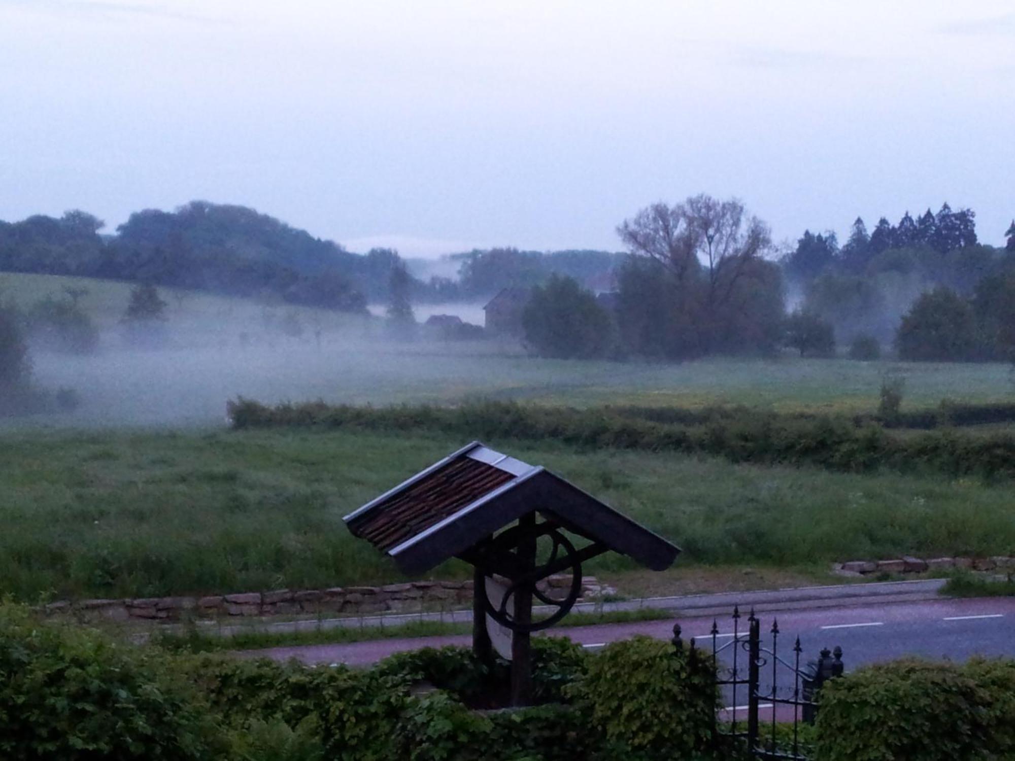
[[[320,398],[349,404],[454,404],[484,397],[579,407],[742,404],[856,413],[876,408],[885,373],[905,378],[903,409],[935,406],[945,398],[977,403],[1015,395],[1004,364],[791,356],[674,364],[552,360],[492,341],[387,342],[379,321],[194,292],[184,293],[180,302],[165,294],[174,336],[170,348],[125,351],[117,325],[127,303],[127,284],[0,274],[0,297],[28,305],[47,294],[59,295],[68,284],[88,289],[82,304],[106,333],[96,356],[35,356],[41,385],[74,388],[82,398],[73,417],[42,421],[57,425],[218,424],[225,401],[236,395],[265,403]],[[306,326],[304,335],[293,338],[265,328],[266,320],[289,312]],[[320,347],[313,338],[315,327],[322,330]],[[249,341],[243,340],[245,335]]]

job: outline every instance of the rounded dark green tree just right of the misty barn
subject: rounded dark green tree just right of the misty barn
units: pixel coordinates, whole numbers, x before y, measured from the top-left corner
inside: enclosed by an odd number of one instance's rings
[[[610,315],[571,277],[551,275],[533,288],[522,326],[526,344],[545,357],[602,357],[613,344]]]

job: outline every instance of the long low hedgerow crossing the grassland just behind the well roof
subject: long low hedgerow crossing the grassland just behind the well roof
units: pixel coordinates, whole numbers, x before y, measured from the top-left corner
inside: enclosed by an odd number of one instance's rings
[[[948,414],[954,409],[959,408],[948,407]],[[974,417],[969,408],[961,409],[954,414]],[[1015,477],[1015,436],[1011,434],[969,436],[945,428],[899,436],[873,419],[845,416],[777,415],[744,408],[701,413],[612,407],[578,410],[514,402],[381,408],[309,402],[269,407],[243,398],[228,404],[228,414],[236,429],[423,429],[463,437],[557,440],[587,448],[714,455],[737,463],[810,465],[848,473],[888,468],[956,477]]]

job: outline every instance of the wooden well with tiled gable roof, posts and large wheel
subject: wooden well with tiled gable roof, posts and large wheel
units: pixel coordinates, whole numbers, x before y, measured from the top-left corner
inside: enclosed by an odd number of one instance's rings
[[[451,558],[473,566],[473,648],[484,661],[493,658],[487,617],[511,632],[515,705],[531,698],[531,634],[557,623],[578,601],[582,563],[613,551],[664,570],[680,552],[559,476],[479,441],[344,520],[406,575]],[[540,583],[561,575],[562,586]]]

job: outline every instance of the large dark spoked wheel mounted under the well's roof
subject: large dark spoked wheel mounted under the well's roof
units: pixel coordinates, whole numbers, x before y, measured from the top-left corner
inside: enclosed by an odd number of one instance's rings
[[[540,559],[537,556],[534,567],[523,570],[517,573],[515,577],[510,578],[510,584],[504,592],[502,600],[494,604],[490,600],[485,585],[481,590],[483,606],[490,618],[512,631],[528,633],[553,626],[567,615],[582,595],[582,561],[578,556],[574,545],[553,524],[543,523],[533,529],[522,526],[509,529],[493,539],[491,554],[500,554],[502,556],[505,553],[511,553],[517,555],[524,541],[538,541],[543,537],[549,540],[549,542],[544,542],[543,544],[550,545],[548,552],[541,553],[545,555],[545,559]],[[545,550],[545,547],[543,549]],[[567,595],[563,599],[551,597],[542,590],[537,589],[539,581],[558,573],[570,573],[570,583],[566,587]],[[529,592],[533,599],[554,610],[549,616],[541,618],[538,621],[521,623],[515,618],[513,601],[518,593],[522,591]]]

